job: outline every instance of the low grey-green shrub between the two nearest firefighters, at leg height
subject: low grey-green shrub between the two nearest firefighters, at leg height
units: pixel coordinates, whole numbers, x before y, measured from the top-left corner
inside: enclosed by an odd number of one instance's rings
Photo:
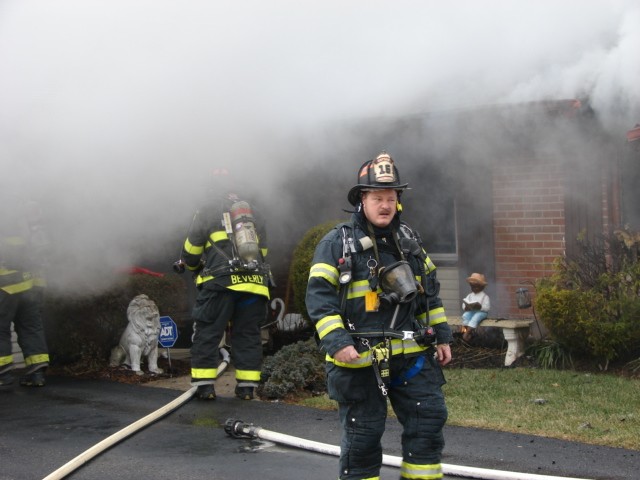
[[[259,395],[270,399],[326,391],[324,354],[313,339],[282,347],[262,365]]]

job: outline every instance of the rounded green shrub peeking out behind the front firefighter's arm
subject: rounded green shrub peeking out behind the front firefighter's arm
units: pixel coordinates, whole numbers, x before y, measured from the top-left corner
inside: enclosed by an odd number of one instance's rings
[[[305,305],[305,296],[313,254],[318,242],[338,223],[340,222],[327,222],[309,229],[293,251],[291,266],[289,267],[289,284],[293,290],[293,307],[307,321],[309,314]]]

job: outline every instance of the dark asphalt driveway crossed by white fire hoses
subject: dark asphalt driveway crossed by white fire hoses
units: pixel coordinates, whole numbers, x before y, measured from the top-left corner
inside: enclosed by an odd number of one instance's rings
[[[48,377],[44,388],[15,386],[0,394],[0,480],[42,479],[60,471],[180,395],[174,389],[64,377]],[[336,412],[232,396],[219,396],[214,402],[191,399],[64,478],[337,478],[336,457],[260,439],[233,438],[224,431],[230,418],[339,444]],[[400,455],[399,438],[399,425],[390,419],[383,438],[386,454]],[[443,463],[451,465],[592,479],[640,478],[637,451],[458,427],[446,427],[445,438]],[[398,478],[398,470],[384,467],[381,478]]]

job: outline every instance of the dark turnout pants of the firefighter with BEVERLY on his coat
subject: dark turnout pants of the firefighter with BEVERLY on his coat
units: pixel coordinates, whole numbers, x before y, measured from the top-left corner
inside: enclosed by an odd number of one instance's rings
[[[214,383],[220,364],[220,342],[230,325],[231,359],[238,383],[257,385],[262,368],[260,325],[267,298],[228,289],[200,290],[193,307],[195,335],[191,346],[191,383]]]

